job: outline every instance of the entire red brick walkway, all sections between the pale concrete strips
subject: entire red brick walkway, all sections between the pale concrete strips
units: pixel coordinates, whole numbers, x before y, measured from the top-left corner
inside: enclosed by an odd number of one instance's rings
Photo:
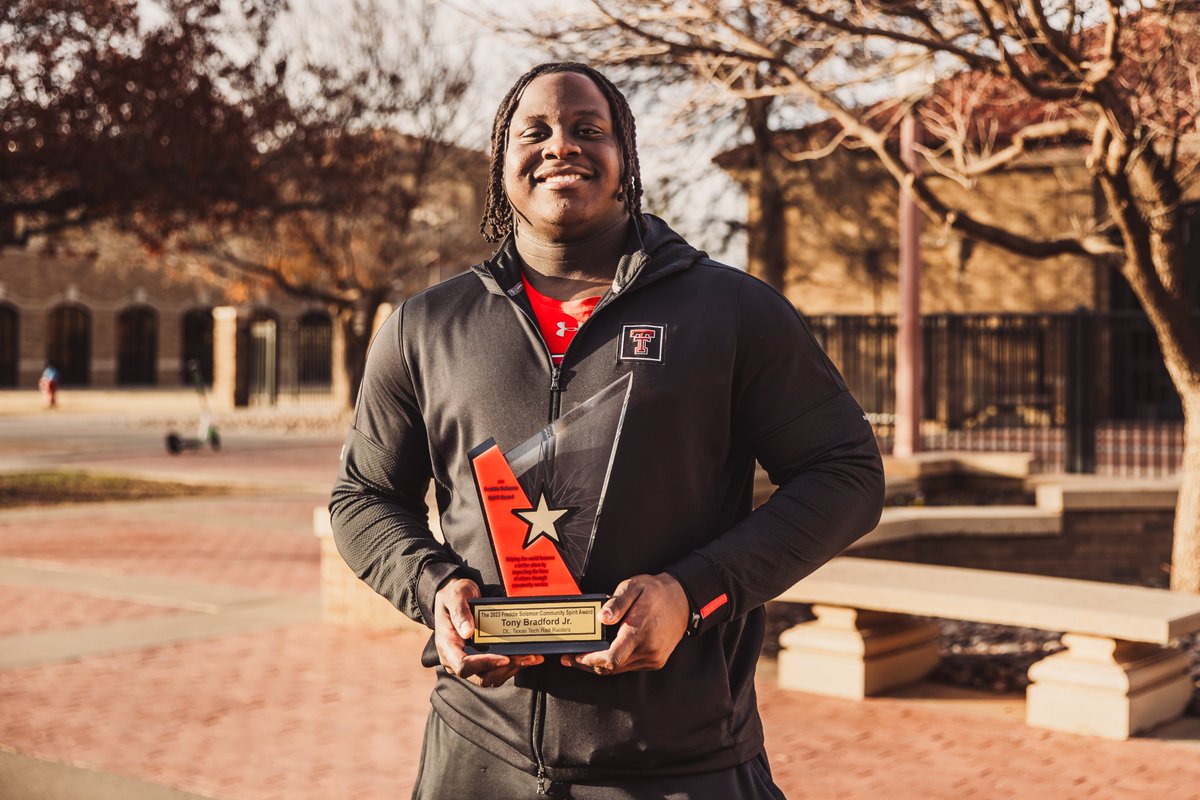
[[[311,452],[336,458],[336,447]],[[329,464],[312,458],[293,458],[289,469],[316,481]],[[55,563],[300,602],[318,585],[310,531],[320,501],[280,489],[18,511],[0,519],[0,565]],[[14,634],[173,613],[2,581],[0,609],[0,652]],[[211,615],[178,616],[180,625],[200,618]],[[280,624],[0,669],[0,750],[221,800],[403,798],[428,709],[424,639]],[[931,702],[785,692],[767,676],[760,706],[772,764],[793,799],[1200,798],[1196,741],[1110,742]],[[10,800],[2,786],[0,798]]]

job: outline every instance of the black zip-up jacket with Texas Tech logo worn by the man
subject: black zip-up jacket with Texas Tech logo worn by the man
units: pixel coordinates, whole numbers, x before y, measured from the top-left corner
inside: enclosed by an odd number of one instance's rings
[[[646,219],[644,248],[620,259],[559,369],[511,240],[401,305],[372,344],[330,504],[355,573],[432,627],[449,577],[472,577],[485,594],[500,585],[468,451],[488,438],[508,450],[634,373],[581,588],[611,593],[668,571],[703,609],[698,632],[654,672],[600,676],[547,658],[480,688],[439,667],[433,690],[451,728],[552,781],[755,757],[762,604],[874,528],[882,506],[871,428],[791,305]],[[631,327],[661,336],[642,360],[623,344]],[[779,488],[751,513],[755,459]],[[426,524],[431,477],[444,543]],[[427,648],[426,666],[436,662]]]

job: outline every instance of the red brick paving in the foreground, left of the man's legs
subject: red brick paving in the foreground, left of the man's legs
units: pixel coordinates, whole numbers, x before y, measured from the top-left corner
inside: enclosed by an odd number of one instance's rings
[[[22,710],[0,742],[222,798],[395,798],[428,708],[424,639],[295,626],[0,673],[0,706]]]

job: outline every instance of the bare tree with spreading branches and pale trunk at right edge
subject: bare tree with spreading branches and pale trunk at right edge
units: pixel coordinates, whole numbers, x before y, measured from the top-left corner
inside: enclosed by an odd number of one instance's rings
[[[1032,258],[1110,261],[1154,327],[1184,411],[1171,585],[1200,591],[1200,319],[1186,260],[1184,204],[1200,176],[1200,11],[1193,2],[1075,0],[594,0],[552,32],[608,31],[610,60],[686,67],[746,103],[827,118],[806,151],[874,155],[928,217]],[[748,25],[746,17],[755,23]],[[580,52],[584,50],[580,48]],[[910,104],[883,100],[925,60],[943,76],[918,113],[932,133],[910,169],[895,127]],[[894,90],[892,90],[894,94]],[[946,178],[977,188],[1038,148],[1069,143],[1103,201],[1075,230],[1028,231],[971,213]],[[961,196],[960,196],[961,197]]]

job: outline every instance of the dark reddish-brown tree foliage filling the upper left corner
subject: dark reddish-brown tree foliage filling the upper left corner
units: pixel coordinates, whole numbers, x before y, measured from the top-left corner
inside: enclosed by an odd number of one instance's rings
[[[238,8],[253,49],[281,5],[161,0],[151,24],[133,0],[6,2],[0,237],[97,221],[155,237],[278,205],[264,175],[287,154],[260,145],[293,125],[283,70],[232,59],[221,19]]]

